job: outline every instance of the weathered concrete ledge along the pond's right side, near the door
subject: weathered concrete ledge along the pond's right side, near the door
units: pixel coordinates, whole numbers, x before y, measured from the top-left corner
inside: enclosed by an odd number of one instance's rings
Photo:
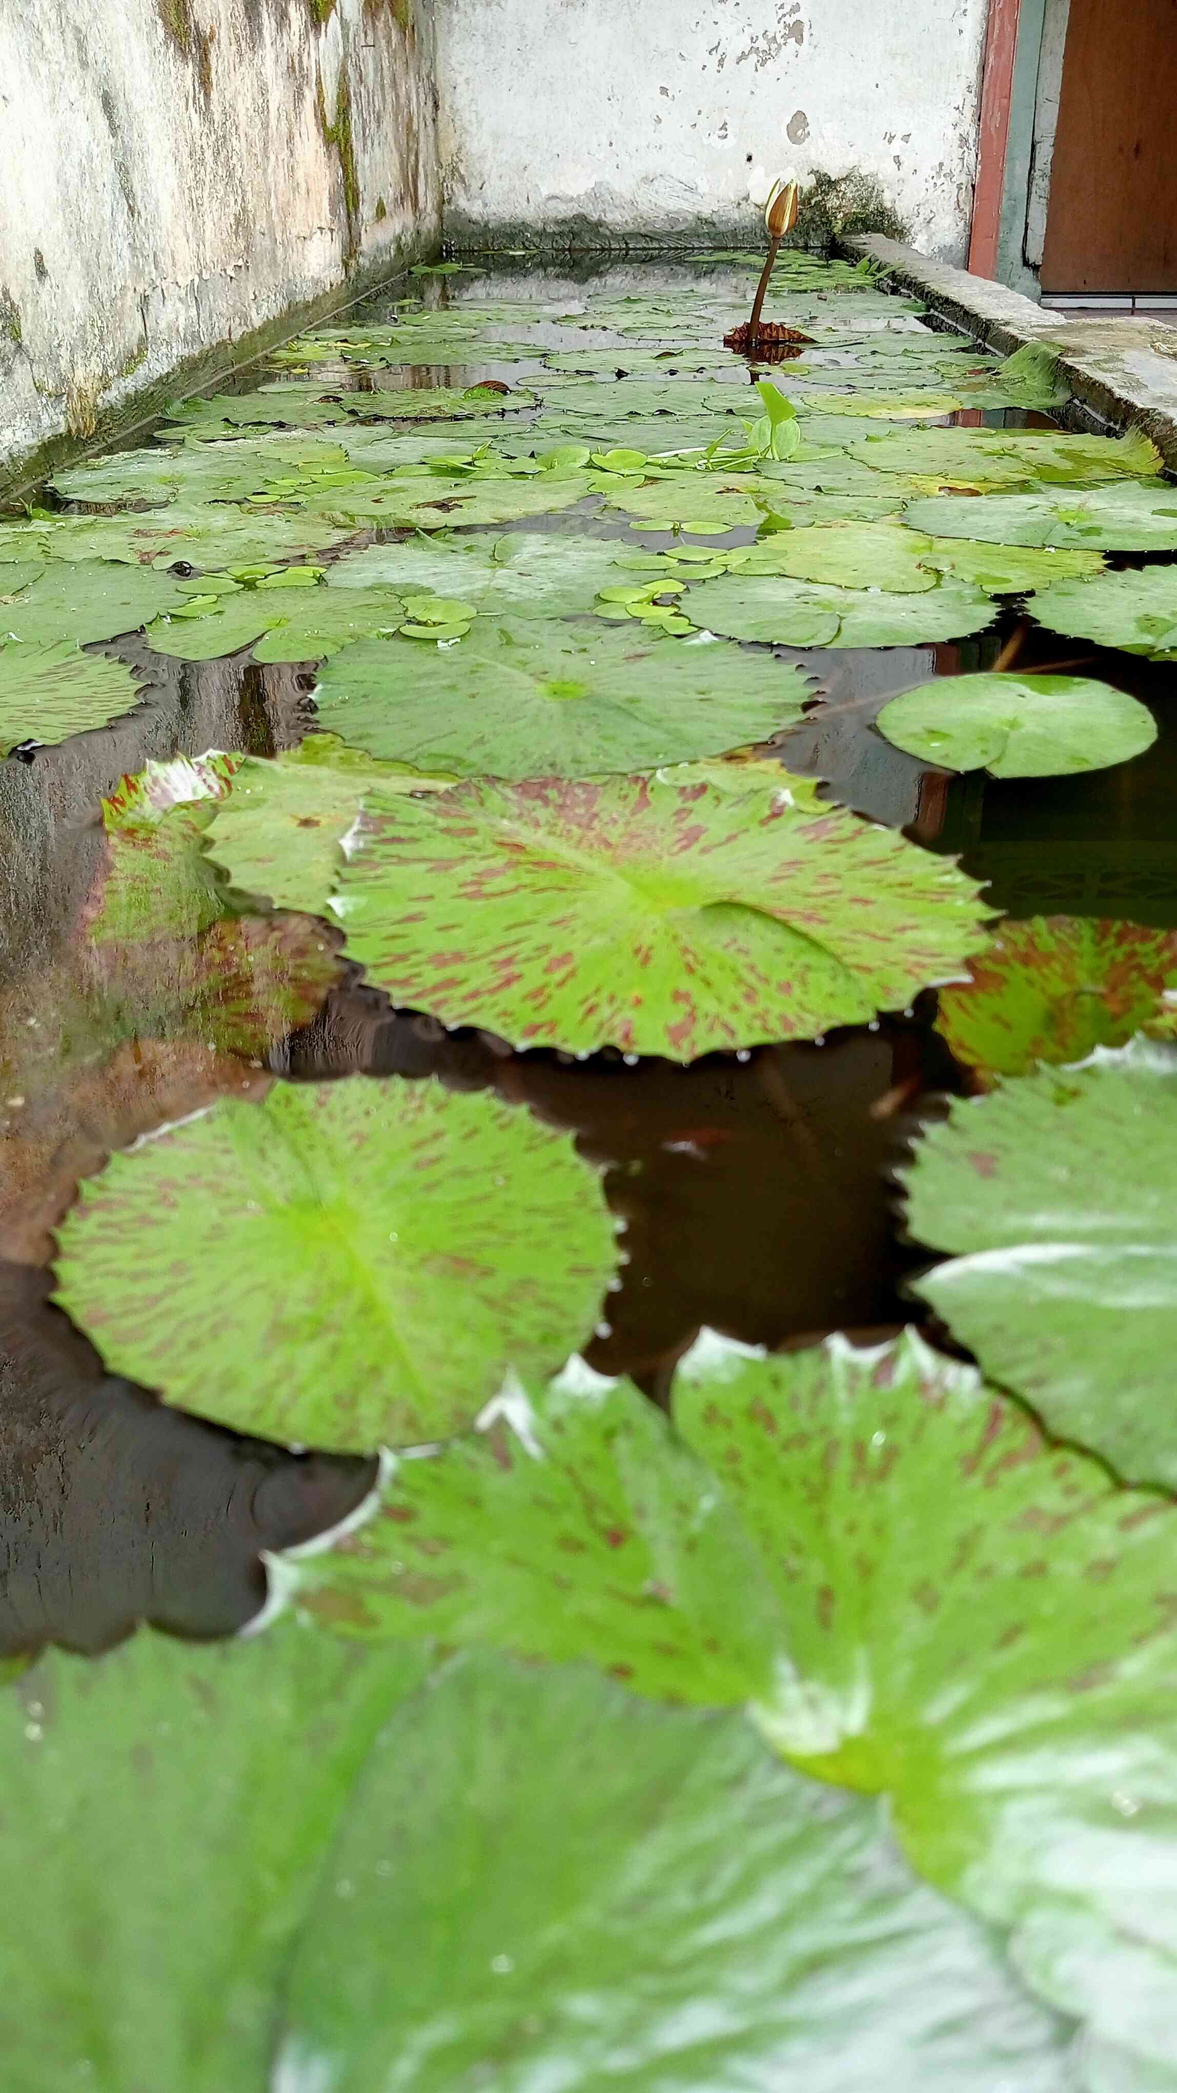
[[[1144,429],[1164,463],[1177,471],[1177,327],[1160,327],[1146,316],[1068,320],[1045,312],[1020,291],[987,276],[970,276],[945,262],[930,262],[914,247],[876,232],[847,237],[851,255],[872,255],[895,283],[916,291],[945,327],[960,329],[1001,356],[1031,341],[1062,352],[1062,368],[1075,391],[1060,412],[1064,427]]]

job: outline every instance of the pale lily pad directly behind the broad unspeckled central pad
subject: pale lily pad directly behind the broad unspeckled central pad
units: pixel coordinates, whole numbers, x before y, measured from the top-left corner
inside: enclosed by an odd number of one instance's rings
[[[598,588],[619,582],[617,546],[602,538],[514,532],[506,538],[408,540],[347,553],[330,588],[435,592],[510,617],[564,617],[592,611]]]

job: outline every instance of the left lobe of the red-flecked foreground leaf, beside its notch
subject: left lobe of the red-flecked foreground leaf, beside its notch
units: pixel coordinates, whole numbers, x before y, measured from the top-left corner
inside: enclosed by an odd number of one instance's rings
[[[585,1660],[698,1706],[769,1693],[784,1633],[709,1469],[581,1360],[533,1398],[510,1377],[483,1430],[397,1463],[378,1515],[297,1576],[343,1635]]]

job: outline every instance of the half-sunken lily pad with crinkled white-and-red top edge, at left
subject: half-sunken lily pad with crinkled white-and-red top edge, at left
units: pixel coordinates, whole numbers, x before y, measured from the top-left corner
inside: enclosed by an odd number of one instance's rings
[[[102,800],[107,875],[88,925],[96,946],[194,938],[230,910],[203,846],[238,762],[217,749],[148,762]]]

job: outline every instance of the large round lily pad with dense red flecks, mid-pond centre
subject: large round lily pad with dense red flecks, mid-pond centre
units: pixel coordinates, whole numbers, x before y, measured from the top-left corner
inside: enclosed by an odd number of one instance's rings
[[[903,1007],[985,942],[943,860],[784,770],[721,789],[707,766],[372,797],[341,919],[445,1023],[675,1061]]]

